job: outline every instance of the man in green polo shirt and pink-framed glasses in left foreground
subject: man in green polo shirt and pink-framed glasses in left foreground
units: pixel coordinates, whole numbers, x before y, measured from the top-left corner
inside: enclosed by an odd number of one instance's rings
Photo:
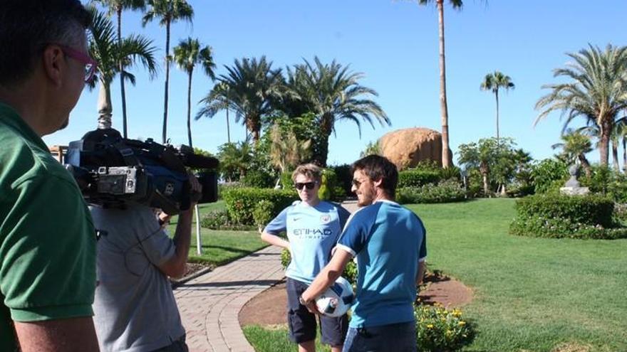
[[[95,62],[78,0],[0,1],[0,351],[97,351],[95,233],[41,137],[65,127]]]

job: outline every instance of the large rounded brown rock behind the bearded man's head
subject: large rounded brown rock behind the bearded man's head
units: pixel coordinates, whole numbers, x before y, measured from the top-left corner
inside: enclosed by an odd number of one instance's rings
[[[432,160],[442,165],[442,134],[427,128],[398,129],[379,139],[379,149],[399,170]]]

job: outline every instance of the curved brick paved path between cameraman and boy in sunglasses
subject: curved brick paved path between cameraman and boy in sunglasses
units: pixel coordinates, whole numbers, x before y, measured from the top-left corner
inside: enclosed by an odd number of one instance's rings
[[[357,208],[355,202],[343,206],[351,213]],[[177,287],[190,351],[254,352],[239,326],[239,311],[283,277],[281,249],[269,246]]]

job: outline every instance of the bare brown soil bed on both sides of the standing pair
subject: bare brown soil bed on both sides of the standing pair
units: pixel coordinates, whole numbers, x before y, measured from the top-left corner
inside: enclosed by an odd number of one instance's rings
[[[462,282],[438,272],[427,274],[425,283],[425,288],[418,295],[424,304],[437,302],[447,308],[452,308],[463,306],[472,301],[472,289],[466,287]],[[239,311],[239,324],[242,326],[287,324],[286,302],[285,281],[281,281],[253,297],[244,305]]]

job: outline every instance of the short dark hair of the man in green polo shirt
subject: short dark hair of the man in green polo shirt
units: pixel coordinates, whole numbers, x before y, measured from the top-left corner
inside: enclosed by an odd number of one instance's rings
[[[76,45],[90,23],[78,0],[1,0],[0,85],[28,78],[47,43]]]

